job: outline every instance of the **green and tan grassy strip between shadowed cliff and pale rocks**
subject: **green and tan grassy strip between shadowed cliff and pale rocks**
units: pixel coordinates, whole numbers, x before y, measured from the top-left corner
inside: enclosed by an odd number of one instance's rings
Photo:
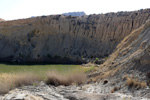
[[[22,85],[45,81],[51,85],[80,85],[86,81],[85,69],[79,65],[0,65],[0,94]]]

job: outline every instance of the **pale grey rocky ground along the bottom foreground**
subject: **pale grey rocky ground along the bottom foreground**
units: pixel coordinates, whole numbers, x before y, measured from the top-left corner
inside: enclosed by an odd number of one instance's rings
[[[0,100],[149,100],[148,98],[133,97],[121,93],[100,92],[104,87],[102,84],[89,84],[78,86],[23,86],[10,91]],[[89,91],[89,90],[92,91]],[[108,88],[107,88],[108,89]],[[106,90],[107,90],[106,89]]]

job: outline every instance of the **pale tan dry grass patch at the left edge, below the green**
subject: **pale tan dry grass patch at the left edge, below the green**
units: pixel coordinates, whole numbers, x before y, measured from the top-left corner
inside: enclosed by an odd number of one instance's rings
[[[30,85],[41,81],[41,78],[33,73],[0,74],[0,94],[7,93],[15,87]]]

